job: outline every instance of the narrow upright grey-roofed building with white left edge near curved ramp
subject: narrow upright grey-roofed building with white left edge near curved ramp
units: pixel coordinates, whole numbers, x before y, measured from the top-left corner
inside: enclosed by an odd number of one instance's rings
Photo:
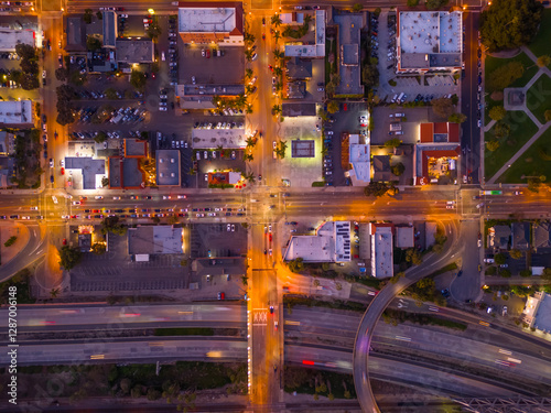
[[[392,224],[369,224],[371,237],[371,275],[386,279],[393,275]]]

